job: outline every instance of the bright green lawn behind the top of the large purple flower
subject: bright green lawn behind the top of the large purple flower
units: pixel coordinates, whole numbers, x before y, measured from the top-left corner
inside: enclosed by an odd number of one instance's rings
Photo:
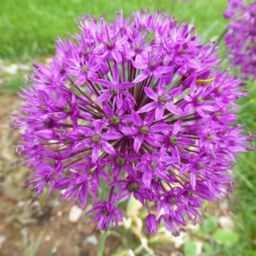
[[[210,31],[206,34],[209,38],[224,29],[225,6],[225,0],[1,0],[0,58],[31,59],[53,53],[56,36],[76,31],[73,21],[86,12],[97,17],[104,12],[111,20],[121,9],[124,15],[142,7],[149,7],[152,12],[161,9],[179,20],[197,24],[200,34]]]

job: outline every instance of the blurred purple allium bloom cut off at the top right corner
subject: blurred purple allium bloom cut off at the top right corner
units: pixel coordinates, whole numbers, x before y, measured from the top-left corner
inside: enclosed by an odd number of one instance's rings
[[[225,42],[233,66],[241,70],[244,78],[256,79],[256,3],[245,5],[242,0],[229,0],[224,17],[232,18]]]

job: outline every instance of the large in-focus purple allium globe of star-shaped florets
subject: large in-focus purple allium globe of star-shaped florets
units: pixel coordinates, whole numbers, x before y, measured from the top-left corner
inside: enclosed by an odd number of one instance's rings
[[[118,227],[118,203],[133,196],[148,234],[163,223],[177,236],[204,200],[231,190],[230,167],[249,140],[233,125],[244,83],[217,71],[214,44],[161,12],[118,12],[113,23],[85,15],[77,25],[20,93],[26,185],[61,190],[81,208],[91,195],[87,214],[102,230]]]

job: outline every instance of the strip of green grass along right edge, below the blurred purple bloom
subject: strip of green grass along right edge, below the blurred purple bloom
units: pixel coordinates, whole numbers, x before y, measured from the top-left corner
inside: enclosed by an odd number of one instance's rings
[[[256,82],[248,82],[246,89],[249,94],[239,100],[241,112],[238,114],[239,123],[246,124],[245,128],[252,134],[256,133]],[[234,200],[235,221],[238,233],[241,234],[239,248],[244,248],[240,255],[256,255],[256,151],[241,154],[238,165],[234,168]],[[234,252],[233,255],[238,255]]]

